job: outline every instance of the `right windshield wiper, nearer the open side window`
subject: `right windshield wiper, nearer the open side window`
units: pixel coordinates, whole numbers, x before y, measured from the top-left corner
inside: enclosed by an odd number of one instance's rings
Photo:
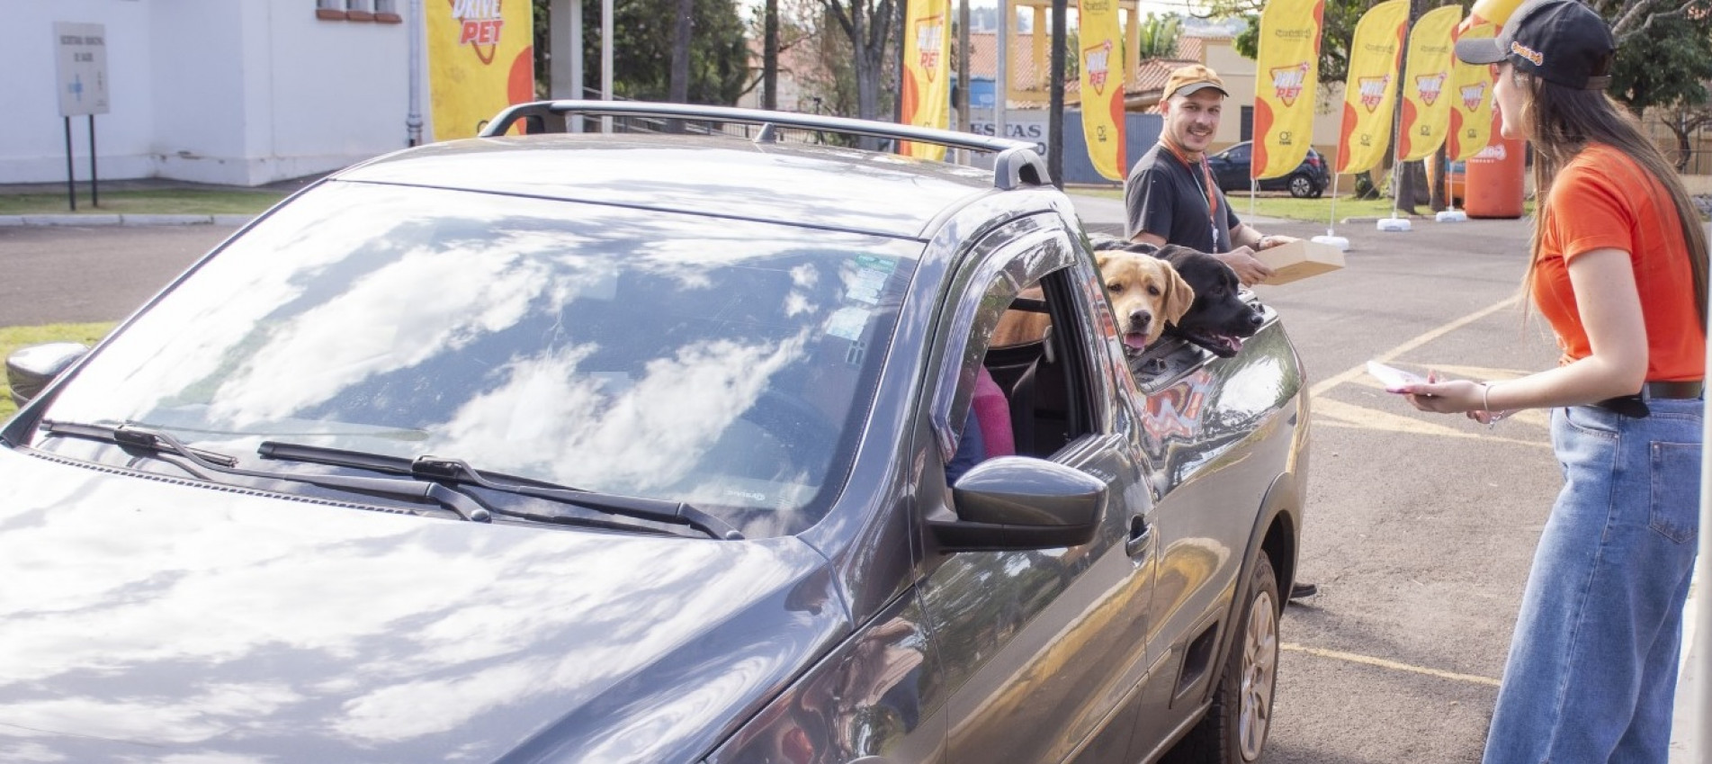
[[[721,538],[721,540],[734,541],[743,538],[743,534],[738,533],[738,529],[733,528],[729,522],[712,514],[707,514],[693,505],[688,505],[685,502],[673,502],[666,498],[625,497],[616,493],[597,493],[582,488],[553,485],[532,478],[519,478],[514,475],[478,471],[476,468],[471,468],[469,464],[459,459],[442,459],[435,456],[419,456],[416,459],[404,459],[387,454],[329,449],[324,445],[284,444],[277,440],[264,440],[262,445],[257,449],[257,452],[262,454],[264,459],[306,461],[315,464],[409,475],[418,480],[474,485],[495,492],[515,493],[520,497],[546,498],[550,502],[572,504],[577,507],[594,509],[623,517],[690,526],[695,528],[697,531],[702,531],[712,538]],[[503,481],[493,478],[502,478]],[[577,516],[517,512],[500,507],[490,507],[490,509],[495,514],[531,519],[536,522],[580,521],[580,517]]]

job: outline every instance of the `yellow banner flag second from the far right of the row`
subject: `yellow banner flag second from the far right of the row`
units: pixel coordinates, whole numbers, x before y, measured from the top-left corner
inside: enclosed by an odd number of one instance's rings
[[[1397,161],[1421,159],[1445,144],[1450,127],[1452,31],[1462,9],[1445,5],[1423,14],[1409,33],[1409,65],[1402,75],[1402,127]]]

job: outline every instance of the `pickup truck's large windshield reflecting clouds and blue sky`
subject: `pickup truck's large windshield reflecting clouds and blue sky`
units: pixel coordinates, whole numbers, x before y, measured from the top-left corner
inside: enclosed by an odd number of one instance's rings
[[[842,486],[918,252],[327,183],[168,291],[45,416],[245,463],[264,440],[454,457],[791,533]]]

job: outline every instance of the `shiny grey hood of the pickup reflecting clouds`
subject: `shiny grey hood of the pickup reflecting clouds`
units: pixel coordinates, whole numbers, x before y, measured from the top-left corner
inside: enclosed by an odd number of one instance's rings
[[[0,761],[690,761],[847,632],[796,538],[491,526],[0,449]]]

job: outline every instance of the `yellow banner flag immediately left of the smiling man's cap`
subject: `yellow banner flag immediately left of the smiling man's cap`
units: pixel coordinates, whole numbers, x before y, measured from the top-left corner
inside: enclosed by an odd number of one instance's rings
[[[1118,0],[1079,0],[1082,45],[1082,137],[1099,175],[1123,180],[1123,31]]]

